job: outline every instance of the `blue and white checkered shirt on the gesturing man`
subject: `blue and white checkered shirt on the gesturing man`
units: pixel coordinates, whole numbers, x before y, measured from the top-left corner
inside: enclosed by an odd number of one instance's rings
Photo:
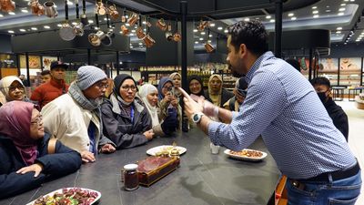
[[[278,169],[290,179],[349,169],[356,163],[313,87],[295,68],[269,51],[248,71],[248,94],[231,124],[212,122],[211,141],[246,149],[262,136]]]

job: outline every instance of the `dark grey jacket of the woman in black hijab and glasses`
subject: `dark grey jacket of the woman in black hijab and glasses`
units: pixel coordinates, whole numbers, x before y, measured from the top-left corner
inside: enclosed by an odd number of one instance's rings
[[[133,148],[147,143],[143,133],[152,128],[152,119],[142,102],[136,97],[133,102],[134,120],[131,121],[120,109],[114,95],[101,105],[104,135],[116,144],[116,149]]]

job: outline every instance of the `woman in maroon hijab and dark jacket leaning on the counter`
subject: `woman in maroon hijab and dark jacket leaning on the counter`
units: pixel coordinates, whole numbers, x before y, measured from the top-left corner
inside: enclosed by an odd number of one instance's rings
[[[80,154],[60,141],[53,147],[49,137],[34,104],[12,101],[0,108],[0,199],[79,169]]]

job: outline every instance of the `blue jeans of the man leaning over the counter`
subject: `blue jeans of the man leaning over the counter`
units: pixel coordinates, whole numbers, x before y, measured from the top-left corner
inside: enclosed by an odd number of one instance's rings
[[[347,179],[327,181],[308,181],[304,188],[298,189],[287,181],[288,205],[354,205],[361,188],[361,174]]]

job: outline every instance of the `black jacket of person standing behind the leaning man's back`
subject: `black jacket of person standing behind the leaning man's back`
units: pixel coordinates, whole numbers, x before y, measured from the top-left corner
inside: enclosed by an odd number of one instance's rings
[[[349,122],[348,116],[345,114],[344,110],[339,107],[331,97],[329,97],[328,101],[324,103],[326,110],[329,113],[329,117],[334,122],[336,128],[344,135],[345,139],[348,141],[349,137]]]

